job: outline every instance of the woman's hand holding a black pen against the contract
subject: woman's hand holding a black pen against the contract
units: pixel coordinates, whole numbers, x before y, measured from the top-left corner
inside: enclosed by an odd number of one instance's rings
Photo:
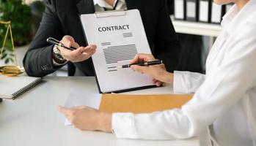
[[[130,64],[136,64],[140,61],[155,61],[156,58],[150,54],[138,54],[133,60],[130,61]],[[162,82],[172,83],[173,74],[166,71],[164,64],[155,65],[155,66],[131,66],[136,72],[141,72],[142,74],[148,74],[150,77],[153,77],[153,83],[160,86]]]

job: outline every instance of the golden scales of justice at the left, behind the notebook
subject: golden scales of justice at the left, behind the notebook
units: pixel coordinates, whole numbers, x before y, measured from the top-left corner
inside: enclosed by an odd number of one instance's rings
[[[15,58],[15,65],[14,66],[0,66],[0,74],[6,75],[8,77],[13,77],[13,76],[17,76],[18,74],[22,74],[24,72],[24,68],[21,66],[18,66],[17,64],[17,58],[16,58],[16,53],[15,53],[15,48],[14,48],[14,44],[13,44],[13,39],[12,39],[12,28],[11,28],[11,21],[1,21],[0,20],[0,24],[4,24],[7,25],[7,31],[4,37],[4,43],[1,47],[1,52],[0,52],[0,57],[3,53],[4,50],[4,45],[8,36],[8,32],[10,31],[10,37],[12,40],[12,50],[14,52],[14,58]]]

